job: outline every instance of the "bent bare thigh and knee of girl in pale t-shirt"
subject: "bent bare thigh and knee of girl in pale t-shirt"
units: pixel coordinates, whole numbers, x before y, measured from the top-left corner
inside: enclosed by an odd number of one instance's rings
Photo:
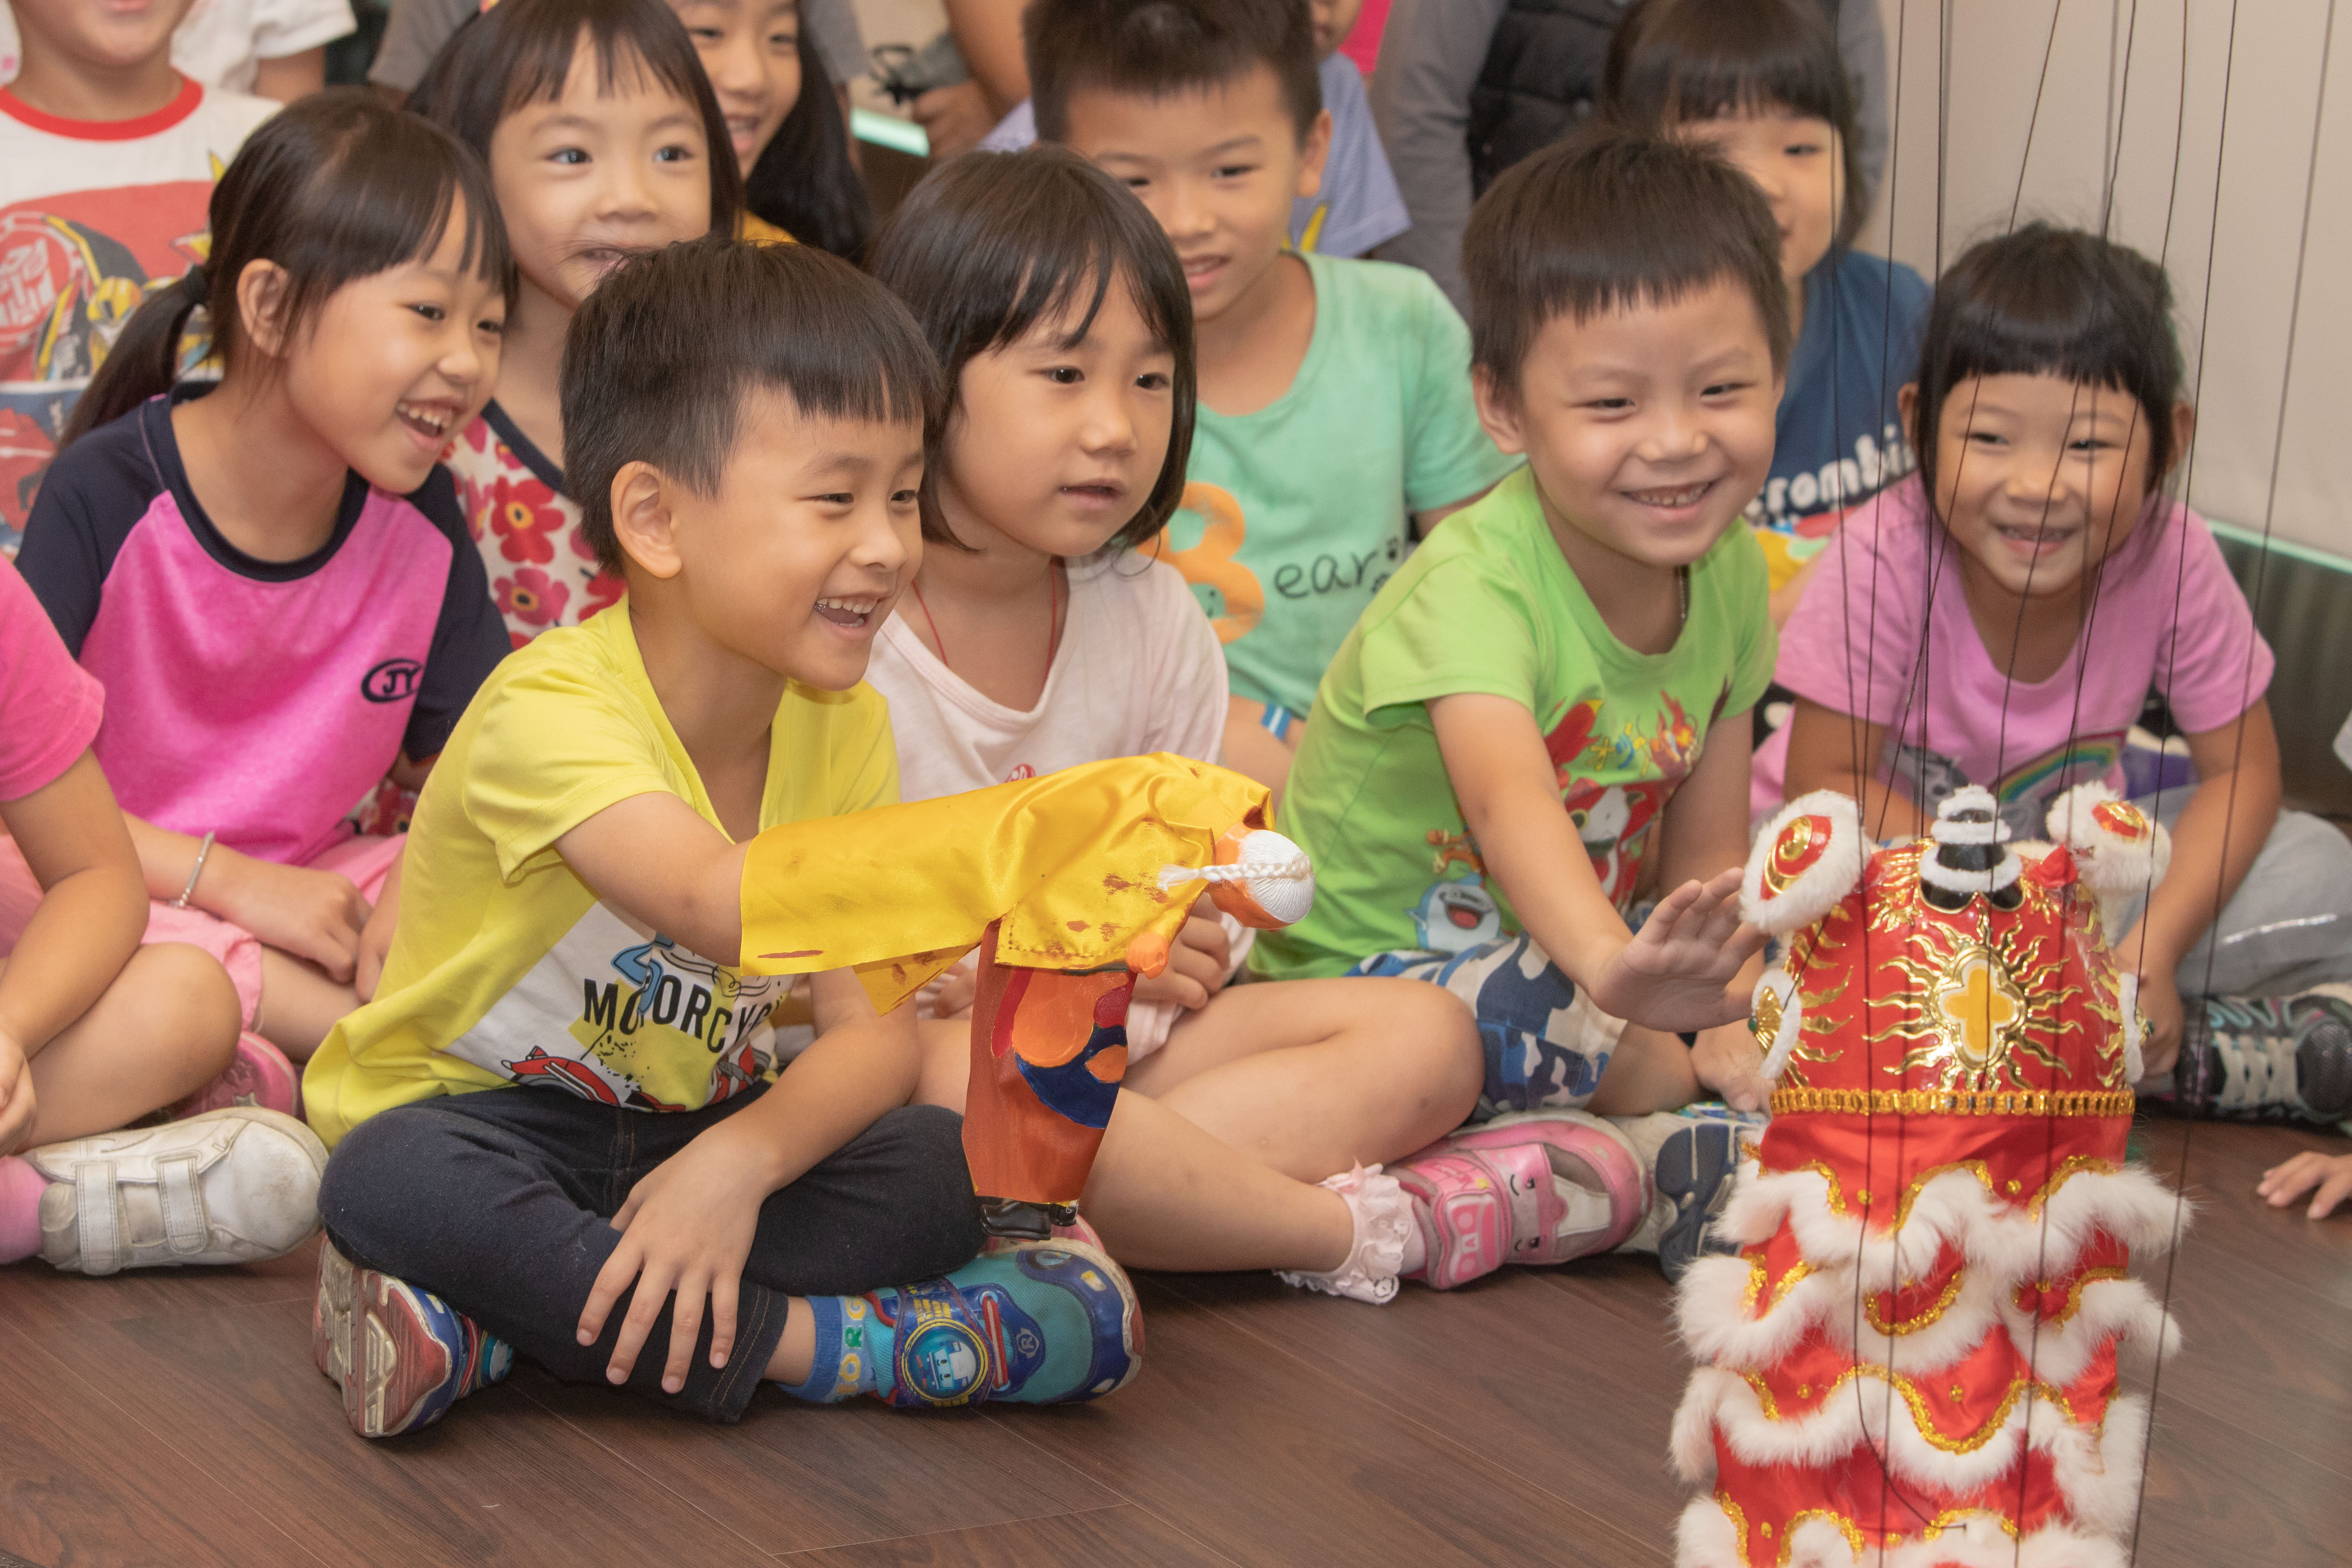
[[[1461,999],[1423,980],[1355,978],[1223,990],[1127,1086],[1312,1182],[1451,1133],[1484,1077]]]

